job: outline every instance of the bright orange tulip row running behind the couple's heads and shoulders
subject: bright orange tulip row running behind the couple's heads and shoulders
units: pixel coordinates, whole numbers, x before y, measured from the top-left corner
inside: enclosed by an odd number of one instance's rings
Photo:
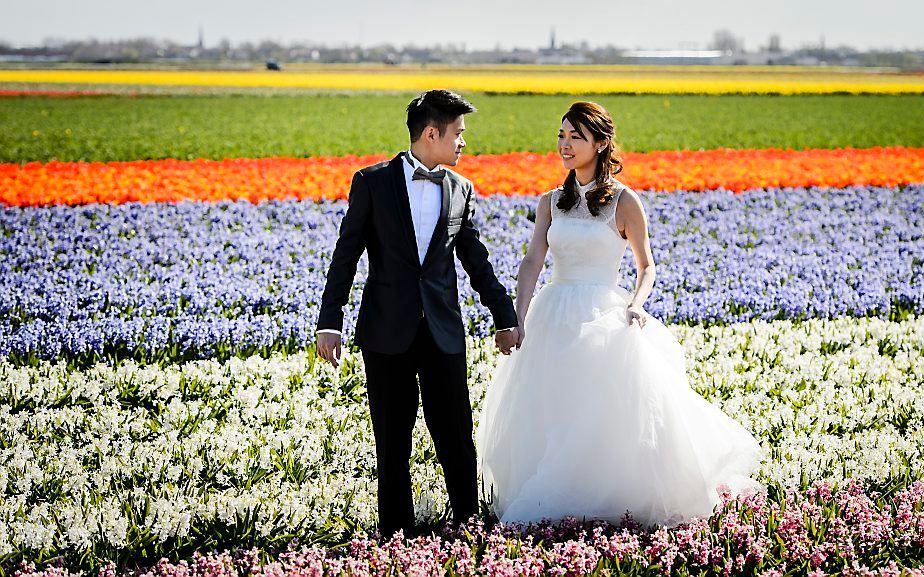
[[[0,164],[0,204],[34,206],[345,198],[355,170],[385,155]],[[626,153],[619,179],[637,190],[699,191],[924,182],[924,148]],[[555,153],[466,156],[456,167],[480,194],[541,194],[565,177]]]

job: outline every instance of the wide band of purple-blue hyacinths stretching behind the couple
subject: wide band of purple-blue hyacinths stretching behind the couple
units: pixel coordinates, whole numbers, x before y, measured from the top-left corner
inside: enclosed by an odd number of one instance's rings
[[[924,186],[642,193],[664,322],[900,316],[924,311]],[[501,282],[535,197],[480,199]],[[313,340],[344,202],[246,201],[0,209],[0,355],[181,360]],[[460,265],[471,334],[489,311]],[[631,250],[621,265],[632,290]],[[345,319],[352,331],[365,257]],[[547,267],[540,285],[547,281]]]

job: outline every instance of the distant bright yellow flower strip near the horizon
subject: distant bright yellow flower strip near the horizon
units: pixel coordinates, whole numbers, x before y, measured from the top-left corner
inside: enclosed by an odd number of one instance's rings
[[[293,67],[265,70],[0,70],[0,83],[540,94],[924,93],[924,76],[843,68],[639,66]]]

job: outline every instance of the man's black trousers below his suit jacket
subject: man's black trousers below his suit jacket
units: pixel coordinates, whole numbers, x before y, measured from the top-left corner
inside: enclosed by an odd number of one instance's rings
[[[418,399],[443,466],[453,521],[468,520],[478,512],[478,481],[465,353],[443,353],[421,318],[409,350],[396,355],[364,350],[363,360],[375,434],[379,531],[386,538],[398,529],[414,533],[409,460]]]

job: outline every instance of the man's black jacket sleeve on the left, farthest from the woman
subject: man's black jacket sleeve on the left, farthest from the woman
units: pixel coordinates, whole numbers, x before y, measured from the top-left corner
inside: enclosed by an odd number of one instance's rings
[[[356,263],[366,250],[366,239],[363,235],[369,222],[372,202],[369,186],[361,172],[353,175],[348,203],[346,214],[340,221],[340,236],[334,247],[324,293],[321,296],[318,330],[343,330],[343,307],[350,298]]]

